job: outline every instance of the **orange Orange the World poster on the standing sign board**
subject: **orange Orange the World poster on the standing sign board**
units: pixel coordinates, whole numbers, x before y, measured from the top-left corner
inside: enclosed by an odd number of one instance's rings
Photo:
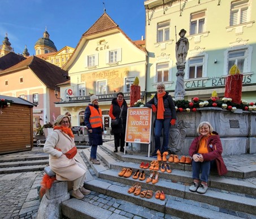
[[[151,108],[128,108],[125,142],[150,144],[151,116]]]

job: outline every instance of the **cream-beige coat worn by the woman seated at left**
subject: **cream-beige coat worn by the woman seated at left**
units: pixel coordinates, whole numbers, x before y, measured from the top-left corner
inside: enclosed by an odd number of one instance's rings
[[[74,138],[71,138],[66,133],[60,130],[54,130],[47,137],[44,151],[49,155],[50,168],[56,173],[56,178],[59,181],[73,181],[85,174],[85,170],[77,163],[77,159],[68,159],[64,155],[68,150],[75,146]],[[61,149],[58,151],[56,148]],[[81,163],[80,163],[81,165]]]

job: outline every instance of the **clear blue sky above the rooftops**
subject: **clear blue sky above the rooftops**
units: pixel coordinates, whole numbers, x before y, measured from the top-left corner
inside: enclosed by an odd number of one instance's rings
[[[104,8],[133,41],[145,38],[144,0],[1,0],[0,4],[0,44],[7,33],[15,53],[22,53],[27,45],[30,55],[35,55],[34,44],[45,28],[58,51],[64,46],[75,48]]]

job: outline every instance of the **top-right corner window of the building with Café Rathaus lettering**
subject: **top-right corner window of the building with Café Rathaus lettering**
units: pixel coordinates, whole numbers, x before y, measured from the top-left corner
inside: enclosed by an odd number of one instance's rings
[[[234,1],[231,3],[230,26],[248,22],[249,0]]]

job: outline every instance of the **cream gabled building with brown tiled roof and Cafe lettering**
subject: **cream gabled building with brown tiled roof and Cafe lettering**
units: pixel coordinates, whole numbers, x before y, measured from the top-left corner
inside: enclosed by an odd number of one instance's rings
[[[109,119],[115,93],[123,92],[129,104],[130,86],[136,76],[140,78],[141,97],[144,97],[146,56],[145,48],[134,43],[105,12],[82,35],[64,65],[70,86],[60,85],[64,101],[55,106],[61,108],[61,113],[71,115],[73,126],[79,126],[83,123],[90,95],[94,94],[98,96],[104,120]]]

